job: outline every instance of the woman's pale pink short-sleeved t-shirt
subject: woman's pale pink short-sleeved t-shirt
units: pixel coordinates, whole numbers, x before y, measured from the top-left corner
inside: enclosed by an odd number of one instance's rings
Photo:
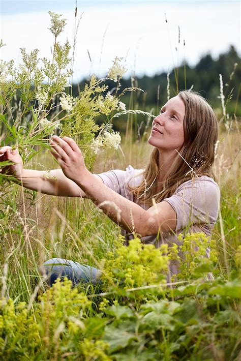
[[[139,203],[136,196],[128,188],[128,185],[131,187],[140,185],[143,180],[143,169],[134,169],[129,165],[126,170],[109,170],[98,175],[104,184],[113,191],[139,204],[144,209],[149,208],[149,205]],[[218,217],[219,200],[219,187],[213,178],[201,176],[183,183],[171,197],[164,199],[175,210],[176,229],[160,234],[158,238],[157,235],[142,237],[142,242],[153,243],[159,247],[162,243],[168,245],[177,243],[179,233],[185,235],[191,232],[204,232],[210,236]],[[128,234],[125,230],[122,233],[125,235],[128,244],[128,240],[132,239],[133,235]],[[208,257],[208,249],[206,253]],[[172,274],[178,272],[174,264],[170,266],[170,270]]]

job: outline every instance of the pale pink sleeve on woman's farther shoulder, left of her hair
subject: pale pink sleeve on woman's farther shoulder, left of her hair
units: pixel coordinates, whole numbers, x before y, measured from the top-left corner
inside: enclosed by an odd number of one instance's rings
[[[142,181],[142,173],[143,169],[134,169],[129,165],[126,170],[114,169],[97,175],[107,187],[123,197],[133,200],[129,185],[131,187],[138,186]]]

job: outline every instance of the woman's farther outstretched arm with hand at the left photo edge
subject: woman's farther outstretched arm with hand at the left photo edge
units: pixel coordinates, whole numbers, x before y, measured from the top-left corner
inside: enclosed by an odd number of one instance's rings
[[[16,182],[23,187],[38,191],[40,193],[65,196],[86,197],[85,193],[71,179],[67,178],[62,169],[54,169],[48,172],[42,170],[23,169],[22,159],[17,149],[10,146],[0,148],[0,161],[11,161],[14,164],[5,167],[3,173],[14,175]],[[96,176],[97,182],[103,183]]]

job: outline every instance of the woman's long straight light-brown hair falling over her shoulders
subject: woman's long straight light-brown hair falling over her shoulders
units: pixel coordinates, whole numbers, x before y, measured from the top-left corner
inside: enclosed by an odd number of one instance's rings
[[[185,105],[184,145],[177,153],[174,162],[158,181],[159,150],[155,148],[143,172],[143,181],[131,191],[140,203],[152,205],[170,197],[177,187],[196,176],[214,177],[212,165],[215,157],[215,144],[218,140],[218,122],[212,107],[198,93],[181,91],[178,97]]]

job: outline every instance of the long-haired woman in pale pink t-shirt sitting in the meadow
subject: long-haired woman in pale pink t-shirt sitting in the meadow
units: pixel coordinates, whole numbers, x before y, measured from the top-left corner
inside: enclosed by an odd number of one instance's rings
[[[213,179],[212,165],[218,124],[213,109],[199,95],[182,91],[162,107],[152,124],[148,143],[154,146],[144,170],[131,166],[126,171],[111,170],[92,174],[73,139],[53,136],[52,155],[62,169],[44,171],[23,169],[21,157],[9,146],[0,149],[3,160],[15,164],[10,174],[24,187],[45,194],[91,199],[128,239],[136,233],[144,243],[177,243],[179,233],[204,232],[207,236],[218,217],[220,192]],[[208,256],[208,249],[207,249]],[[51,285],[67,275],[73,283],[98,281],[94,267],[53,258],[44,263]],[[170,273],[178,264],[170,264]]]

